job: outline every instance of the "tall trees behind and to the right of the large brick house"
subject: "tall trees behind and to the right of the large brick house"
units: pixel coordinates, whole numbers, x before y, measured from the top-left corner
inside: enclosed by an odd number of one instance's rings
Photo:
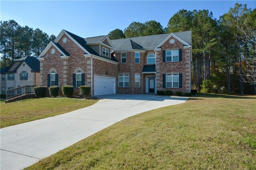
[[[208,10],[180,10],[166,28],[159,22],[132,22],[116,29],[110,39],[130,38],[192,30],[192,85],[205,93],[255,94],[256,9],[235,4],[213,18]]]

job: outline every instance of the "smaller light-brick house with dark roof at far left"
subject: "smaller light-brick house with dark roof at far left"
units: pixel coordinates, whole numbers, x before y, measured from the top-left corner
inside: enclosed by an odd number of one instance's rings
[[[35,57],[16,59],[1,69],[1,94],[25,85],[40,85],[40,61]]]

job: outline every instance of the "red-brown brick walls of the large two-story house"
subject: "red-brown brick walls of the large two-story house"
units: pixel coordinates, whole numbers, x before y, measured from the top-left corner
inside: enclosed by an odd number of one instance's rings
[[[63,38],[67,38],[67,42],[62,42]],[[47,86],[47,74],[52,70],[55,70],[58,74],[58,85],[72,85],[72,76],[79,69],[85,74],[85,85],[91,86],[92,78],[92,89],[94,87],[94,76],[97,75],[116,78],[116,93],[143,94],[146,93],[146,76],[153,76],[156,77],[156,91],[172,90],[185,93],[190,90],[190,49],[184,49],[183,43],[176,39],[171,44],[169,42],[171,39],[175,38],[170,37],[169,40],[161,45],[159,51],[154,51],[153,49],[140,51],[140,63],[135,63],[135,51],[126,51],[126,63],[121,63],[121,52],[114,53],[119,62],[118,64],[104,61],[104,59],[92,58],[93,75],[91,77],[91,57],[85,57],[85,52],[64,34],[58,40],[58,44],[70,54],[70,57],[61,58],[62,54],[52,45],[44,54],[44,60],[40,63],[41,85]],[[51,53],[52,49],[55,49],[54,54]],[[182,49],[182,61],[163,62],[162,51],[172,49]],[[147,65],[147,56],[150,53],[156,55],[156,74],[142,74],[143,67]],[[163,88],[163,74],[175,73],[182,73],[182,88]],[[129,75],[129,87],[118,87],[119,74]],[[135,74],[140,75],[140,87],[135,87]],[[79,89],[75,88],[75,92],[78,93],[78,91]]]

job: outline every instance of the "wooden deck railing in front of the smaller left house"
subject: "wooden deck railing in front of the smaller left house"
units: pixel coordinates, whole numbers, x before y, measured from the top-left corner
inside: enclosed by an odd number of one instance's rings
[[[16,87],[14,89],[6,90],[6,100],[23,94],[34,93],[34,87],[35,86],[32,85],[25,85],[21,87]]]

